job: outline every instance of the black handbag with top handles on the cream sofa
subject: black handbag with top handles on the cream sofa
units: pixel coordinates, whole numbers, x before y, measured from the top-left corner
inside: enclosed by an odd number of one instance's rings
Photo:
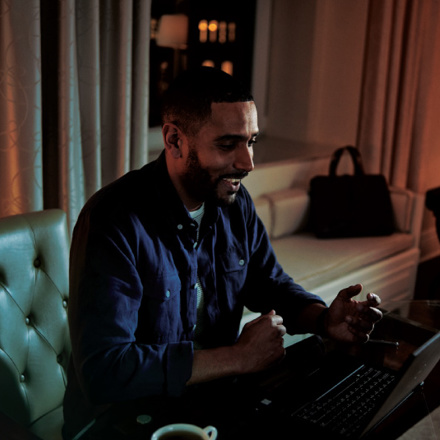
[[[354,174],[336,174],[344,152],[350,153]],[[352,146],[338,148],[328,176],[310,181],[311,229],[319,238],[389,235],[394,230],[390,193],[383,175],[365,174],[361,156]]]

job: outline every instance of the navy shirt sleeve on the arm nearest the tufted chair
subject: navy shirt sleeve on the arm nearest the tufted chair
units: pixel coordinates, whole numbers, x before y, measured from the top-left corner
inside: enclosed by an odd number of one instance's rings
[[[138,342],[136,236],[116,223],[83,212],[72,239],[69,324],[78,380],[95,404],[179,395],[191,376],[193,345]]]

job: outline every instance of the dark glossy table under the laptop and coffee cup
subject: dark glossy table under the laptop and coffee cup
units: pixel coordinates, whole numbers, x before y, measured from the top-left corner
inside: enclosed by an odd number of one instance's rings
[[[398,368],[421,338],[427,333],[440,331],[440,301],[392,302],[382,307],[387,319],[376,325],[372,337],[398,341],[400,347],[397,351],[381,344],[346,345],[308,338],[289,347],[283,362],[269,371],[192,387],[182,398],[154,402],[138,400],[114,406],[83,440],[148,440],[158,427],[176,422],[202,427],[214,425],[219,429],[219,440],[277,438],[276,415],[273,420],[262,423],[254,411],[255,402],[268,391],[284,386],[292,378],[301,383],[301,378],[329,353],[348,353]],[[429,416],[440,406],[439,390],[440,364],[425,380],[423,388],[376,429],[373,438],[397,439],[419,420]],[[279,430],[278,434],[283,434]],[[37,440],[2,414],[0,432],[5,440]]]

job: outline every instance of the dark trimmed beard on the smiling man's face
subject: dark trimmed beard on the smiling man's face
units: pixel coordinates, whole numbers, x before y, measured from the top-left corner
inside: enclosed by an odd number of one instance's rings
[[[188,152],[186,169],[183,182],[190,196],[201,203],[211,201],[220,206],[231,205],[237,195],[235,191],[220,194],[219,183],[221,180],[225,177],[242,179],[248,174],[247,172],[225,174],[213,181],[209,171],[201,166],[196,150],[191,147]]]

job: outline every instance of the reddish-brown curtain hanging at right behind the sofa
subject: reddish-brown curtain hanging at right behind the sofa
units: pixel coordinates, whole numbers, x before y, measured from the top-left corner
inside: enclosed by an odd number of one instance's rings
[[[358,146],[369,172],[418,192],[440,111],[439,23],[439,0],[370,0]]]

